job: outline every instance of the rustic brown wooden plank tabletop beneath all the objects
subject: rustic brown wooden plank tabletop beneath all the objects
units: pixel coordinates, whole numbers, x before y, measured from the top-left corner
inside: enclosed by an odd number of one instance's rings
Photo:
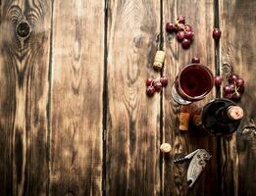
[[[256,195],[255,0],[0,0],[0,195]],[[192,25],[189,50],[164,26]],[[24,37],[21,21],[30,25]],[[223,31],[215,44],[212,29]],[[24,28],[24,29],[23,29]],[[26,33],[26,26],[21,29]],[[29,30],[29,29],[28,29]],[[164,35],[163,73],[152,70]],[[246,117],[232,138],[178,130],[171,84],[192,56],[243,76]],[[220,97],[219,90],[201,101]],[[159,152],[172,144],[172,155]],[[212,155],[192,189],[175,157]]]

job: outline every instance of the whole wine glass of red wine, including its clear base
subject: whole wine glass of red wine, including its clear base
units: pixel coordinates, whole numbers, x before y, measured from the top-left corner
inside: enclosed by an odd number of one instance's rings
[[[180,105],[199,101],[212,90],[213,73],[202,64],[189,64],[177,75],[172,88],[172,96]]]

